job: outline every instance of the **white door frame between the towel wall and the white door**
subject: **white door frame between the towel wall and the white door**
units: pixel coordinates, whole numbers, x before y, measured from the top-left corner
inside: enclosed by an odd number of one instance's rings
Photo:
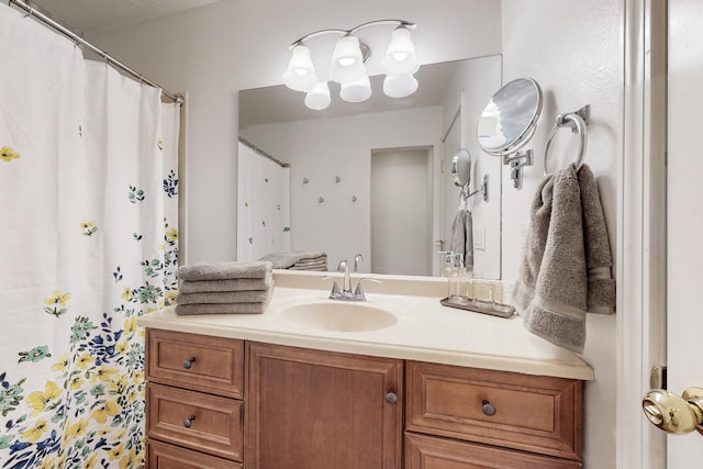
[[[618,163],[616,467],[666,468],[666,435],[644,417],[650,370],[666,365],[666,0],[623,0]]]

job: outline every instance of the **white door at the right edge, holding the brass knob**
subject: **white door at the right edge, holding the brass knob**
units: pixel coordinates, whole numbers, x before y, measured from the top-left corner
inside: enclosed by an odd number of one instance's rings
[[[703,3],[669,0],[669,391],[703,388]],[[703,467],[703,435],[667,437],[668,469]]]

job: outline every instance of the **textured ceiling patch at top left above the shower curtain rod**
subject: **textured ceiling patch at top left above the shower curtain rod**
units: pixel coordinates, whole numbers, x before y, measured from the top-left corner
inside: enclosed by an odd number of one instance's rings
[[[78,34],[107,31],[203,7],[217,0],[33,0],[53,20]]]

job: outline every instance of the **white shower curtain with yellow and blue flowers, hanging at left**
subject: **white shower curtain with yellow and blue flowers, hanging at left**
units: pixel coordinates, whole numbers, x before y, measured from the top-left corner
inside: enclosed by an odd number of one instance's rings
[[[144,464],[144,337],[172,302],[177,104],[0,4],[0,468]]]

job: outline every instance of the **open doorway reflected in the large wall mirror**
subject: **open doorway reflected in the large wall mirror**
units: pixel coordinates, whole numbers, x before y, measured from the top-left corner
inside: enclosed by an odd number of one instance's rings
[[[432,150],[371,152],[371,271],[431,276]]]

